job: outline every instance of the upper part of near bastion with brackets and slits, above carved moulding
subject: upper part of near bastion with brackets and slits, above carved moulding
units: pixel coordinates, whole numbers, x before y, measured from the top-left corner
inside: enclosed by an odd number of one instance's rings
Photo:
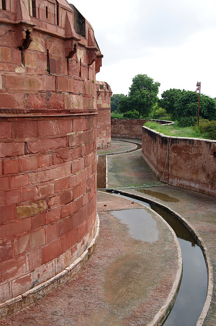
[[[96,112],[102,54],[65,0],[0,0],[1,115]]]

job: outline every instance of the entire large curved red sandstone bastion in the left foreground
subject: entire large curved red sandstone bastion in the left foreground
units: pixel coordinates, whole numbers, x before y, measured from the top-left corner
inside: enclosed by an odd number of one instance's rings
[[[102,55],[89,22],[65,0],[0,0],[0,22],[4,316],[95,239]]]

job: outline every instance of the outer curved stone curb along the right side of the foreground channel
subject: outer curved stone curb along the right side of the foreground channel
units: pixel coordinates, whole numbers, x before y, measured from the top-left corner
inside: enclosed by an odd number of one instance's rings
[[[204,240],[202,239],[202,237],[200,236],[200,234],[198,232],[195,232],[195,230],[193,229],[192,225],[186,221],[186,219],[184,219],[180,214],[178,214],[176,211],[174,211],[173,209],[169,208],[166,205],[160,204],[156,201],[153,201],[147,197],[142,197],[139,195],[134,195],[131,193],[126,193],[126,192],[122,192],[121,190],[118,190],[118,192],[122,195],[126,195],[126,196],[130,196],[134,199],[139,199],[139,200],[145,200],[148,203],[157,205],[160,208],[165,208],[169,213],[171,213],[173,215],[174,218],[178,219],[188,230],[190,230],[190,232],[193,234],[193,236],[195,237],[195,239],[197,240],[204,259],[205,259],[205,264],[206,264],[206,269],[207,269],[207,274],[208,274],[208,288],[207,288],[207,294],[206,294],[206,299],[205,299],[205,304],[203,306],[202,312],[199,316],[199,319],[196,323],[196,326],[202,326],[203,322],[205,320],[205,317],[208,313],[209,307],[210,307],[210,303],[211,303],[211,298],[212,298],[212,294],[213,294],[213,266],[211,263],[211,259],[210,259],[210,255],[208,253],[207,247],[205,246]],[[165,221],[166,222],[166,221]],[[170,312],[170,311],[169,311]],[[167,314],[168,317],[169,313]],[[166,317],[166,318],[167,318]],[[166,320],[163,319],[164,321]],[[161,326],[161,321],[157,320],[155,321],[155,323],[150,323],[147,326]]]

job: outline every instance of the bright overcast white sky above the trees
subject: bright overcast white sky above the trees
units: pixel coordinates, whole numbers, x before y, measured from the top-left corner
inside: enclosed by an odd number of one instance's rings
[[[96,79],[127,94],[147,74],[170,88],[216,97],[215,0],[69,0],[90,22],[103,54]],[[215,84],[214,84],[215,82]]]

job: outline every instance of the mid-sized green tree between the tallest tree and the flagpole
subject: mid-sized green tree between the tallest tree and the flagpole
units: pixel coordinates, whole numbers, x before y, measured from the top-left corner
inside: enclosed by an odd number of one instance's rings
[[[161,99],[158,100],[158,105],[165,108],[168,114],[173,114],[175,102],[182,96],[184,90],[171,88],[161,94]]]

